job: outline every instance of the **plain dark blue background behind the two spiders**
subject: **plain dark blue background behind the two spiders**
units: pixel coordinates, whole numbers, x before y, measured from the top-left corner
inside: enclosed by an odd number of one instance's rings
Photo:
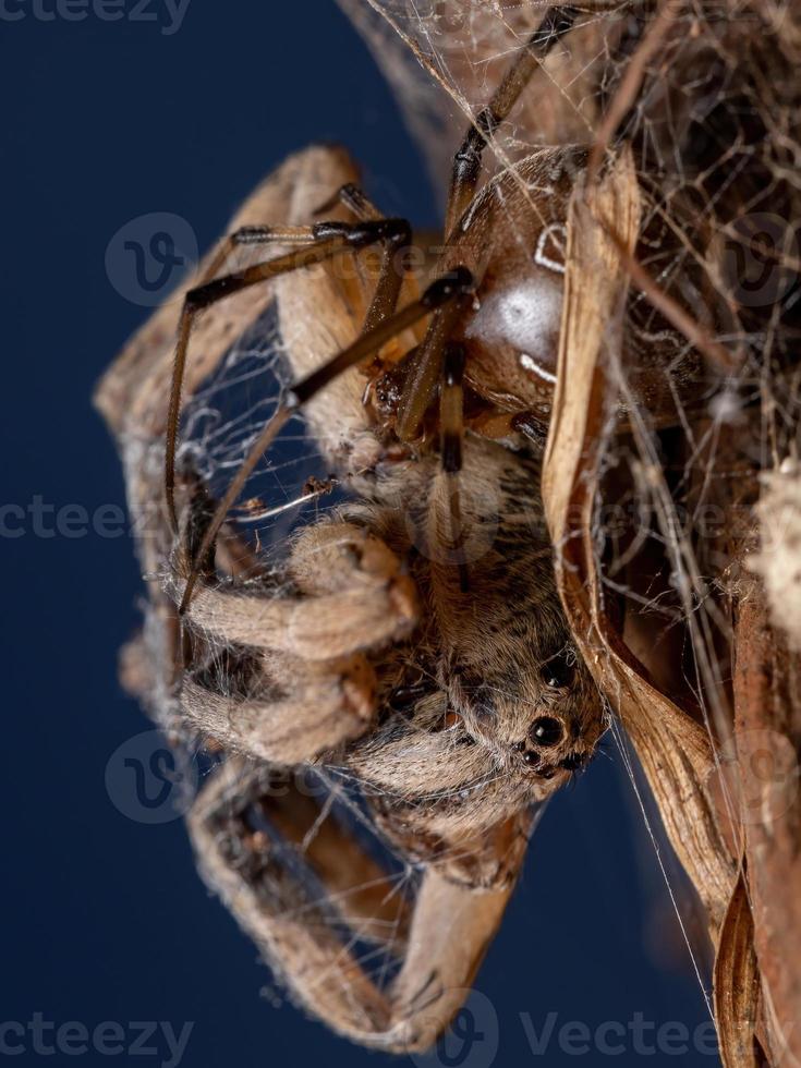
[[[90,391],[147,314],[106,275],[106,246],[124,222],[174,211],[205,247],[264,173],[315,139],[345,142],[390,210],[430,222],[433,198],[387,88],[332,0],[191,0],[172,36],[153,23],[44,22],[23,10],[22,21],[0,20],[2,502],[26,507],[41,495],[93,512],[121,503],[123,488]],[[195,875],[181,823],[148,827],[109,800],[110,755],[147,726],[116,677],[141,591],[130,539],[28,530],[2,550],[0,1020],[40,1011],[89,1029],[195,1021],[191,1068],[388,1063],[259,996],[268,974]],[[551,805],[478,978],[499,1019],[496,1064],[609,1061],[597,1051],[571,1056],[556,1041],[535,1058],[524,1012],[537,1031],[548,1012],[559,1014],[557,1028],[627,1023],[636,1012],[691,1029],[705,1019],[611,743],[607,754]],[[482,1056],[476,1047],[461,1063],[478,1068]],[[129,1059],[159,1063],[117,1061]],[[615,1059],[639,1057],[630,1047]],[[717,1064],[701,1054],[645,1060]],[[37,1061],[28,1042],[17,1063]],[[63,1061],[108,1057],[49,1058]]]

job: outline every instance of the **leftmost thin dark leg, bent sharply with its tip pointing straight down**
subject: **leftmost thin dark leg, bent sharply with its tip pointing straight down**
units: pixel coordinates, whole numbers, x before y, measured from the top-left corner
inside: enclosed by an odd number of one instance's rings
[[[301,247],[283,256],[278,256],[275,259],[254,264],[242,270],[235,270],[229,275],[223,275],[221,278],[207,281],[190,290],[184,298],[178,327],[175,359],[172,367],[170,402],[167,416],[167,444],[165,449],[165,497],[169,520],[174,533],[178,533],[178,514],[175,510],[175,449],[181,414],[181,389],[190,336],[197,315],[211,304],[217,303],[217,301],[223,300],[233,293],[239,293],[251,286],[256,286],[259,282],[277,278],[279,275],[286,275],[302,267],[311,267],[325,259],[330,259],[331,256],[347,250],[357,251],[364,248],[375,242],[386,242],[392,246],[395,250],[392,263],[395,263],[398,246],[400,245],[402,247],[409,243],[409,223],[403,219],[381,219],[354,224],[347,222],[318,222],[312,227],[281,227],[275,229],[269,227],[246,227],[238,231],[235,243],[256,244],[271,241],[300,244]],[[228,243],[223,243],[220,252],[215,257],[215,264],[224,262],[224,257],[229,254],[230,247]],[[386,279],[384,278],[384,274],[388,276]],[[391,272],[383,272],[378,287],[376,288],[376,295],[371,305],[371,312],[376,305],[376,301],[380,301],[381,308],[391,304],[391,294],[396,286],[398,291],[400,291],[402,279],[396,282],[390,275]],[[381,282],[384,282],[383,286]]]

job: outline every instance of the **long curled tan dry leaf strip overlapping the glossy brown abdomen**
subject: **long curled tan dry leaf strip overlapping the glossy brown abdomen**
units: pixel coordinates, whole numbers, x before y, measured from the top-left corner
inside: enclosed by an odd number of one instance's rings
[[[568,231],[559,374],[543,474],[543,497],[558,547],[559,588],[596,682],[634,744],[665,829],[693,882],[713,933],[723,922],[733,866],[705,784],[713,748],[705,732],[648,681],[606,617],[593,529],[605,421],[615,402],[605,350],[627,292],[624,265],[609,231],[632,248],[639,224],[636,179],[623,151],[603,182],[577,190]],[[590,279],[593,279],[591,284]],[[603,284],[600,283],[603,280]]]

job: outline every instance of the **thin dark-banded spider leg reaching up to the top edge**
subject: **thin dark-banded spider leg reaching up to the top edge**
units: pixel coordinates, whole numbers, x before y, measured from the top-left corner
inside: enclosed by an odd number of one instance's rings
[[[445,226],[445,232],[448,236],[451,235],[473,199],[478,184],[482,156],[487,146],[487,138],[509,117],[509,112],[518,102],[520,94],[539,69],[541,62],[557,41],[572,29],[578,14],[578,9],[571,4],[550,8],[514,58],[502,82],[493,94],[489,104],[482,108],[475,117],[473,125],[453,157]]]

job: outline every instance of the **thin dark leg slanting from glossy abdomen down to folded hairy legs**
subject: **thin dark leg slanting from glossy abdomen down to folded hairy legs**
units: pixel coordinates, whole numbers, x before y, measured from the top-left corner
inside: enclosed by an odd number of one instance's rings
[[[461,305],[465,295],[472,291],[472,288],[473,276],[463,267],[458,268],[449,275],[437,278],[418,300],[401,308],[400,312],[396,312],[395,315],[385,319],[368,333],[362,333],[347,349],[337,353],[331,360],[317,368],[317,371],[312,372],[311,375],[307,375],[288,391],[284,400],[251,446],[247,456],[242,461],[239,471],[217,506],[217,510],[206,529],[197,550],[190,560],[186,586],[179,608],[180,614],[186,610],[192,599],[192,592],[197,582],[201,566],[208,558],[217,534],[224,523],[231,507],[242,491],[259,459],[270,447],[281,428],[286,426],[290,417],[300,411],[304,404],[338,375],[361,363],[365,356],[376,352],[387,341],[408,329],[418,319],[449,304]]]

